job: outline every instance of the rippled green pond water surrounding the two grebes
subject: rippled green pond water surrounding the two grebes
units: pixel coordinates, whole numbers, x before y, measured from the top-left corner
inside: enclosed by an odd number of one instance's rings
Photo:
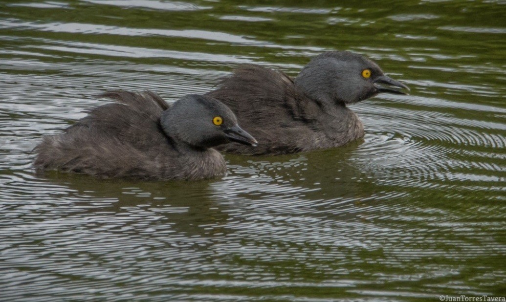
[[[506,295],[504,1],[0,1],[0,299]],[[211,181],[35,174],[108,89],[205,93],[349,50],[411,88],[349,146],[225,154]]]

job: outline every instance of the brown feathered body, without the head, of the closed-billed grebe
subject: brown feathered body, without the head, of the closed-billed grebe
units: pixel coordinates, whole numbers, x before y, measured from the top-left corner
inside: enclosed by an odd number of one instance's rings
[[[37,169],[146,180],[225,174],[225,161],[216,150],[181,154],[171,145],[159,123],[169,106],[157,94],[111,91],[100,97],[118,103],[94,108],[64,133],[45,137],[34,149]]]

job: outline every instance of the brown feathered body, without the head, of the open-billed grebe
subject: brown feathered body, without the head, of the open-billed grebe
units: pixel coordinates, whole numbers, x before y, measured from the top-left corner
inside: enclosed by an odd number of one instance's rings
[[[313,100],[283,72],[258,65],[240,66],[207,96],[229,106],[246,131],[262,138],[257,147],[218,147],[226,152],[296,153],[340,147],[364,135],[362,122],[345,105]]]

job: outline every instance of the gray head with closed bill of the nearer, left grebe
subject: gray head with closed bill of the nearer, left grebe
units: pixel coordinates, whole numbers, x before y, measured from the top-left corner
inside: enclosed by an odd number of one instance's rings
[[[256,146],[242,130],[230,108],[201,95],[187,95],[162,113],[160,124],[171,138],[198,148],[211,148],[231,141]]]

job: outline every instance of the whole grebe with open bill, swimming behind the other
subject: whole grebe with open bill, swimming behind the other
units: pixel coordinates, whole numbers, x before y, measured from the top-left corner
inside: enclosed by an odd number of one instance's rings
[[[383,87],[381,84],[386,84]],[[347,105],[378,93],[409,90],[368,58],[331,51],[314,57],[292,79],[259,65],[242,65],[207,93],[226,104],[256,147],[235,143],[219,150],[240,154],[285,154],[343,146],[364,136],[358,116]]]

